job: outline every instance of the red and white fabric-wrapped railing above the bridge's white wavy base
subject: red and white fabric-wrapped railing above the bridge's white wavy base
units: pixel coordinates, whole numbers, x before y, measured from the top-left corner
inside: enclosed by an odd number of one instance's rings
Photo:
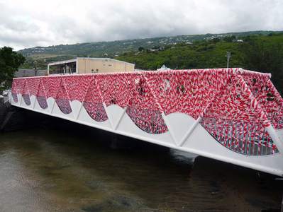
[[[283,100],[267,73],[197,69],[14,78],[14,102],[18,95],[26,105],[35,96],[44,110],[53,98],[64,114],[77,100],[96,122],[109,119],[106,107],[118,105],[148,134],[167,132],[168,115],[187,114],[232,151],[272,155],[282,148],[268,129],[283,128]]]

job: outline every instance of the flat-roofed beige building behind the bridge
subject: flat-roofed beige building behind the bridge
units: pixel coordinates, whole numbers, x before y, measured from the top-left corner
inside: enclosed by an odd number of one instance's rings
[[[48,64],[48,74],[131,72],[135,64],[110,58],[77,57]]]

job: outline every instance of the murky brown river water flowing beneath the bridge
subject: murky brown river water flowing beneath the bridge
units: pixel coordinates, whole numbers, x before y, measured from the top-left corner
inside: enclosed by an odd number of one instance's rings
[[[272,176],[74,129],[0,134],[0,211],[279,211]]]

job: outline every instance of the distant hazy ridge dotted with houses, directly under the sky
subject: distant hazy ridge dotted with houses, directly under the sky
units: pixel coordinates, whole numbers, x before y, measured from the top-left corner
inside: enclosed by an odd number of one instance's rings
[[[177,45],[179,43],[195,42],[198,40],[211,40],[213,38],[243,37],[248,35],[268,35],[272,31],[251,31],[244,33],[223,33],[223,34],[206,34],[206,35],[179,35],[172,37],[154,37],[147,39],[118,40],[111,42],[87,42],[74,45],[56,45],[50,47],[33,47],[22,49],[18,52],[31,59],[43,59],[45,61],[56,61],[70,59],[73,57],[117,57],[124,52],[137,51],[139,47],[152,49],[165,47],[167,45]]]

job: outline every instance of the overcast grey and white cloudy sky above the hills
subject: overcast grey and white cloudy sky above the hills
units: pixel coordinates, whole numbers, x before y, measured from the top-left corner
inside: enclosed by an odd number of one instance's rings
[[[0,0],[0,47],[283,30],[282,0]]]

